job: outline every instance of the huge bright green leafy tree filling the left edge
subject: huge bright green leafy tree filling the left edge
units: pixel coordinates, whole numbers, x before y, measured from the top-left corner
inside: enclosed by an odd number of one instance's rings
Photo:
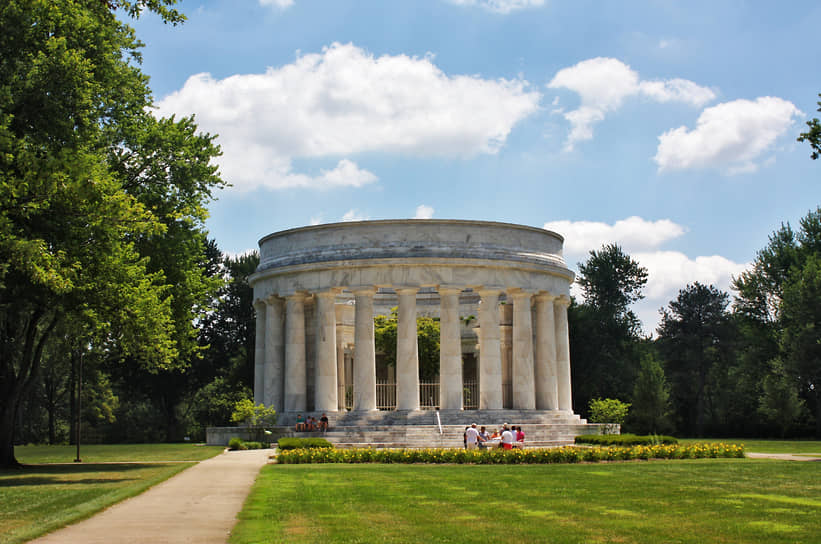
[[[16,464],[15,416],[61,323],[82,325],[81,345],[146,370],[191,353],[192,313],[181,308],[208,289],[190,268],[195,251],[176,270],[149,257],[196,238],[180,233],[198,230],[222,183],[210,165],[218,149],[192,120],[148,113],[141,44],[113,11],[177,24],[173,4],[0,7],[0,466]]]

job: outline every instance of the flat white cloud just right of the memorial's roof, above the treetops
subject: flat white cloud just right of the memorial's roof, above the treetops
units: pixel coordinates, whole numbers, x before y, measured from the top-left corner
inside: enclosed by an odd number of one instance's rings
[[[630,253],[657,248],[686,232],[684,227],[669,219],[648,221],[637,216],[612,225],[597,221],[549,221],[544,228],[564,236],[566,254],[584,259],[589,251],[598,251],[604,244],[619,244]]]

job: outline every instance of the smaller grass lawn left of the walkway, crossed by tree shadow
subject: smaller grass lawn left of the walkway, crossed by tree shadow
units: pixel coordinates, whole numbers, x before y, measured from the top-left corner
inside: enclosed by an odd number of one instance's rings
[[[83,463],[72,463],[73,446],[15,448],[28,466],[0,470],[0,543],[25,542],[87,518],[221,451],[191,444],[83,446]]]

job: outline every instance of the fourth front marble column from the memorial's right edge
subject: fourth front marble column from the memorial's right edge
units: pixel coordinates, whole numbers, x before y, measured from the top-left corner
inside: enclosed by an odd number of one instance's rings
[[[502,352],[498,289],[477,289],[479,304],[479,409],[502,409]]]

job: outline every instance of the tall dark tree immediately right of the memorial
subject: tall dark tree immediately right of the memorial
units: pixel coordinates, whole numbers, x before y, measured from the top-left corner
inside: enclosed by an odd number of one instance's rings
[[[568,309],[574,403],[630,396],[644,350],[641,322],[630,306],[643,298],[647,270],[616,244],[591,251],[576,280],[584,301]]]

